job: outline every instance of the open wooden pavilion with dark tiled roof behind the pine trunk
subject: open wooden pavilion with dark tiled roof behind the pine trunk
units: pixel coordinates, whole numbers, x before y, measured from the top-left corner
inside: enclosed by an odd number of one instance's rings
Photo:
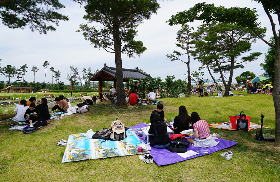
[[[90,78],[90,81],[98,81],[99,82],[99,97],[102,99],[102,95],[105,92],[102,92],[101,87],[101,81],[113,81],[114,82],[114,88],[116,88],[116,68],[109,67],[104,64],[104,68],[99,70],[97,73],[93,75],[93,77]],[[139,71],[138,67],[133,69],[126,69],[123,68],[123,81],[127,82],[129,79],[139,80],[144,79],[146,77],[151,77],[151,75],[147,73],[143,73],[142,71]],[[118,92],[118,91],[117,91]],[[124,91],[122,91],[124,93]],[[107,93],[107,92],[106,92]]]

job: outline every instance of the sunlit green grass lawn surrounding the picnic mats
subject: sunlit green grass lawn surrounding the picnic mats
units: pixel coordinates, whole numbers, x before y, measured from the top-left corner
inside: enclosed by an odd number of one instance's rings
[[[165,117],[171,121],[177,116],[179,106],[189,113],[198,112],[201,119],[211,123],[229,121],[229,116],[244,111],[251,122],[260,124],[260,114],[265,116],[264,136],[275,134],[275,111],[272,95],[233,92],[240,97],[198,97],[159,99],[164,105]],[[109,103],[109,101],[106,101]],[[273,142],[257,141],[260,129],[230,131],[210,128],[210,133],[238,142],[237,145],[209,155],[158,167],[145,164],[138,155],[92,159],[61,163],[65,147],[56,147],[60,139],[70,134],[85,133],[109,128],[119,118],[125,126],[148,123],[155,105],[131,105],[125,109],[110,109],[102,103],[90,106],[84,114],[72,114],[62,120],[51,120],[46,127],[31,134],[19,130],[9,131],[8,122],[0,123],[0,181],[279,181],[280,148]],[[230,160],[221,154],[233,152]]]

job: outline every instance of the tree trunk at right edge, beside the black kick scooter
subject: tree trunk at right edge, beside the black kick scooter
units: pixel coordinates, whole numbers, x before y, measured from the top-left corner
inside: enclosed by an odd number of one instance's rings
[[[275,43],[276,55],[272,97],[275,108],[275,144],[280,145],[280,97],[278,90],[280,85],[280,37]]]

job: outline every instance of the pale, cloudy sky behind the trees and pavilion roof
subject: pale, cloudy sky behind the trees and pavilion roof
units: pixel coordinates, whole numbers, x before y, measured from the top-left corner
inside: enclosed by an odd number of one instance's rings
[[[267,27],[266,40],[272,36],[271,25],[269,19],[266,16],[262,6],[251,0],[236,0],[236,1],[219,1],[204,0],[207,4],[214,3],[215,6],[230,7],[249,7],[251,9],[257,9],[259,14],[259,22],[262,27]],[[26,29],[10,29],[0,23],[1,36],[0,36],[0,59],[1,68],[6,65],[14,65],[16,68],[27,64],[27,72],[25,80],[32,82],[34,80],[34,72],[31,71],[33,65],[39,68],[39,72],[35,73],[35,82],[44,82],[45,70],[42,66],[47,60],[50,65],[47,67],[46,82],[52,82],[52,72],[50,68],[60,70],[61,79],[65,84],[67,73],[70,74],[70,66],[77,67],[79,74],[82,77],[83,68],[91,68],[93,73],[96,69],[102,69],[104,63],[109,67],[115,67],[114,53],[108,53],[105,50],[94,48],[94,45],[90,44],[90,41],[86,41],[81,33],[76,32],[79,29],[81,23],[87,23],[82,17],[85,15],[83,7],[73,1],[61,0],[62,4],[66,7],[59,12],[69,16],[69,21],[61,21],[57,30],[48,32],[47,34],[39,34],[39,32],[31,32]],[[173,54],[173,51],[180,51],[176,47],[176,33],[181,26],[174,25],[168,26],[166,21],[175,15],[177,12],[189,10],[198,2],[203,1],[187,1],[187,0],[174,0],[174,1],[158,1],[161,8],[157,14],[151,16],[149,20],[145,20],[137,28],[138,37],[136,40],[141,40],[144,46],[147,48],[140,57],[128,58],[125,54],[122,54],[123,68],[136,68],[144,70],[152,77],[161,77],[164,81],[166,76],[176,76],[176,79],[185,80],[187,76],[187,64],[181,61],[170,61],[166,57],[166,54]],[[277,24],[276,17],[274,21]],[[190,26],[196,28],[201,25],[201,21],[195,21],[189,23]],[[93,25],[93,24],[92,24]],[[276,29],[279,29],[276,25]],[[244,69],[234,70],[233,81],[235,77],[239,76],[244,71],[250,71],[255,75],[262,75],[263,70],[260,70],[260,63],[263,62],[265,53],[268,50],[262,40],[257,40],[252,45],[251,52],[263,52],[263,54],[255,61],[245,64]],[[249,53],[248,53],[249,54]],[[246,54],[242,55],[245,56]],[[181,57],[187,60],[187,56]],[[239,58],[240,59],[240,58]],[[190,72],[198,71],[200,63],[191,57]],[[211,79],[206,69],[201,70],[204,72],[204,79]],[[213,73],[212,73],[213,74]],[[216,79],[219,75],[213,74]],[[229,77],[228,73],[225,77]],[[8,81],[5,76],[0,75],[0,81]]]

